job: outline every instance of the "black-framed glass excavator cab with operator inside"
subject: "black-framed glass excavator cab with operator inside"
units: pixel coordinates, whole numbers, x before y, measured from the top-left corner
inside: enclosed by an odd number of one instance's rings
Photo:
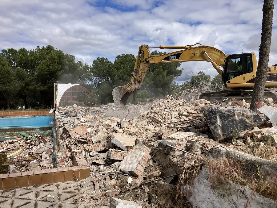
[[[239,76],[241,76],[241,78],[237,78],[236,83],[245,83],[244,75],[251,73],[252,70],[251,53],[227,56],[225,60],[225,67],[223,68],[223,83],[227,87],[227,84],[231,83],[231,79]]]

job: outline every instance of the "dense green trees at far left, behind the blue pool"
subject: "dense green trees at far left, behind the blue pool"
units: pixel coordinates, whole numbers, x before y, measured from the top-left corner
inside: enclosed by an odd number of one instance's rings
[[[5,76],[13,80],[10,82],[10,79],[5,79],[10,84],[5,85],[9,88],[2,91],[1,96],[5,100],[12,98],[8,104],[12,104],[13,108],[23,106],[23,103],[25,108],[53,106],[54,82],[76,83],[90,89],[93,87],[89,83],[91,73],[88,64],[75,62],[73,55],[64,54],[50,45],[29,51],[25,48],[3,49],[0,56],[10,64],[11,71],[5,73]],[[3,107],[8,106],[0,102],[0,108]]]

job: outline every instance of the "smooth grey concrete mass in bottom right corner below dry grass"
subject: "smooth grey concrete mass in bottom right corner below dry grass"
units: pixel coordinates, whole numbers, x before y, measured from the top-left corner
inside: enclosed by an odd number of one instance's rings
[[[211,189],[210,183],[208,182],[209,175],[209,169],[203,167],[193,182],[193,186],[190,187],[191,197],[189,198],[189,202],[192,207],[277,207],[277,202],[253,192],[247,186],[241,186],[231,182],[226,186],[218,185],[216,189]],[[188,189],[188,186],[185,186],[183,191],[185,189]],[[249,201],[251,206],[246,206],[247,201]]]

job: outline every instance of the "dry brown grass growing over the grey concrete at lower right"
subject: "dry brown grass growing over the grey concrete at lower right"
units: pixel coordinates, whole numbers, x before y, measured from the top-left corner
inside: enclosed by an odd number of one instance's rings
[[[273,200],[277,200],[277,179],[271,177],[264,179],[259,171],[252,177],[247,177],[242,171],[241,166],[233,157],[223,157],[220,160],[209,160],[209,184],[211,188],[219,183],[230,184],[234,182],[239,185],[247,185],[254,192],[262,194]]]

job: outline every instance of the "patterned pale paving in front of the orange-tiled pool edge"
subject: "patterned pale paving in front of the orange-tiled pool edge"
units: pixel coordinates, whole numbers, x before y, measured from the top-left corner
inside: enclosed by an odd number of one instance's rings
[[[91,195],[95,193],[93,186],[80,188],[80,182],[68,181],[40,185],[38,187],[25,187],[7,189],[0,192],[0,208],[77,208],[98,207],[101,200],[92,200]],[[77,189],[77,190],[76,190]],[[46,200],[47,195],[54,196],[54,202]],[[84,197],[78,203],[74,203],[75,196],[80,194]]]

